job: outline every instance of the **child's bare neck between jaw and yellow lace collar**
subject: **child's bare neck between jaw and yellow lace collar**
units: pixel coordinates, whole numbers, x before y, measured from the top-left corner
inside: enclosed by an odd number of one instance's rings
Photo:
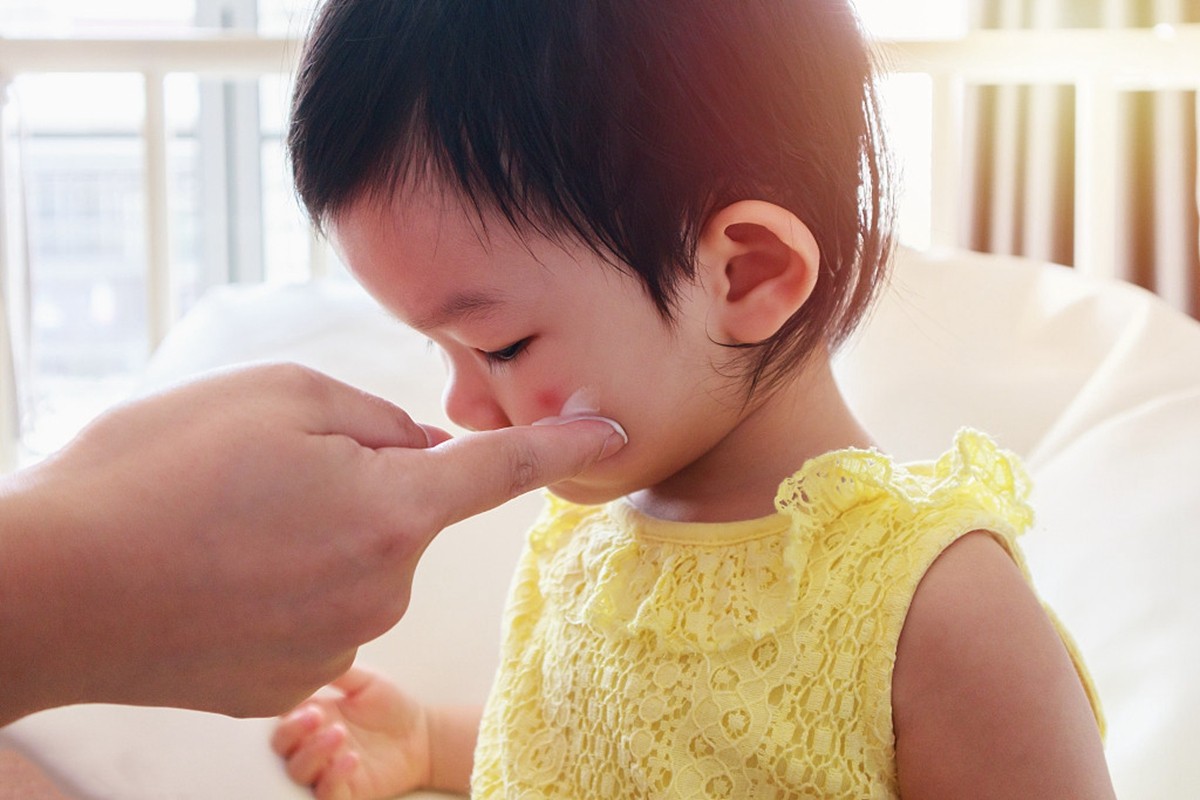
[[[712,450],[630,500],[644,513],[680,522],[731,522],[774,512],[779,483],[808,459],[871,447],[834,379],[827,356],[814,357],[786,385],[751,403]]]

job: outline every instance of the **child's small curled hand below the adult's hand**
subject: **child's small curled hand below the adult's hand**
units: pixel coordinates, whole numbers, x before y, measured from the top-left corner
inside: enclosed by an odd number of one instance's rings
[[[359,667],[284,716],[271,747],[318,800],[383,800],[428,782],[425,709]]]

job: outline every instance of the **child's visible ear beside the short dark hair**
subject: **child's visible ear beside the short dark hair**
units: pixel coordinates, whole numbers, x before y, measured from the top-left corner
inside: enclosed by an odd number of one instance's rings
[[[738,200],[709,217],[697,261],[712,299],[709,336],[754,344],[774,336],[812,294],[821,251],[787,209]]]

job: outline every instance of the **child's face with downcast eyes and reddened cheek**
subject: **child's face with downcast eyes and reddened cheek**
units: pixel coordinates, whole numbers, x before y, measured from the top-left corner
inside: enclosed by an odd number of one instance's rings
[[[551,487],[566,499],[601,503],[702,469],[738,423],[736,351],[710,341],[700,283],[683,287],[668,323],[636,277],[582,245],[522,237],[503,219],[481,229],[432,187],[362,199],[334,234],[367,290],[440,348],[456,425],[528,425],[570,399],[625,428],[614,457]]]

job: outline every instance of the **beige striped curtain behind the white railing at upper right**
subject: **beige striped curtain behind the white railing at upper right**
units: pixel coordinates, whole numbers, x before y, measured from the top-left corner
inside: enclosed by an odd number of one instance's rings
[[[1200,23],[1200,0],[972,0],[976,28],[1163,23]],[[1070,86],[968,90],[964,245],[1074,264],[1074,108]],[[1196,114],[1194,91],[1122,92],[1114,246],[1120,277],[1200,318]]]

